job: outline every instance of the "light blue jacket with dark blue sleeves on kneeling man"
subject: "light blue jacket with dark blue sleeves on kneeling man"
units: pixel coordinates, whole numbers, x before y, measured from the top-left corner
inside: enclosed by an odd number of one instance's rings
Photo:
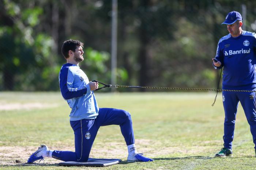
[[[89,79],[79,66],[64,64],[59,73],[60,91],[71,108],[70,120],[95,119],[98,105]]]

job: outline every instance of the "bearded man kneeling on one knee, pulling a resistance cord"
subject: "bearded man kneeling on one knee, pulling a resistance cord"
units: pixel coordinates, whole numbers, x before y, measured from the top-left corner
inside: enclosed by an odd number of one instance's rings
[[[138,154],[134,144],[132,119],[129,112],[113,109],[98,108],[94,90],[98,82],[91,82],[78,66],[83,58],[83,43],[78,40],[67,40],[61,48],[67,63],[61,67],[59,74],[60,91],[71,108],[70,125],[75,134],[75,152],[51,151],[46,145],[41,145],[27,163],[39,159],[55,158],[61,161],[86,162],[98,129],[106,125],[119,125],[128,147],[128,162],[154,161]]]

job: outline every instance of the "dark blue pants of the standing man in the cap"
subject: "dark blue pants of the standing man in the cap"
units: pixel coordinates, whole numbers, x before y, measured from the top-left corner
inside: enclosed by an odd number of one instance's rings
[[[254,91],[255,88],[248,89]],[[238,108],[238,101],[240,101],[246,119],[250,125],[253,143],[256,150],[256,104],[255,92],[222,92],[223,106],[225,111],[224,121],[224,147],[231,149],[234,138],[234,129],[236,114]]]

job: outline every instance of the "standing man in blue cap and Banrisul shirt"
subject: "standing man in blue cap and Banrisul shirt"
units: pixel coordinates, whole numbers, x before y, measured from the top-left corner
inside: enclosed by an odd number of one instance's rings
[[[242,16],[232,11],[222,23],[227,25],[229,34],[218,43],[217,54],[212,58],[215,69],[223,69],[222,88],[225,90],[256,89],[256,34],[242,30]],[[222,92],[224,121],[224,147],[215,157],[232,156],[232,141],[240,101],[250,125],[256,151],[256,105],[255,92]]]

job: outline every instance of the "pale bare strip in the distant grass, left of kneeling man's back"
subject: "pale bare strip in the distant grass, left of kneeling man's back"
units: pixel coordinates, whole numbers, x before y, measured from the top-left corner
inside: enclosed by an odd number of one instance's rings
[[[52,108],[57,106],[57,104],[49,103],[1,103],[0,111],[11,111],[19,109],[31,110],[35,108]]]

